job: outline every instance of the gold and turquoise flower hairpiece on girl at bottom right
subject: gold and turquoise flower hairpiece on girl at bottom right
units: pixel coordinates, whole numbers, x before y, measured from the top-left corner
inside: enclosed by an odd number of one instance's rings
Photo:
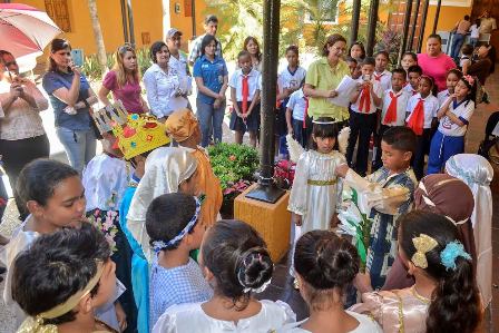
[[[439,245],[438,242],[433,237],[421,234],[419,237],[412,238],[412,244],[414,244],[415,253],[412,255],[411,262],[420,268],[428,268],[427,253],[436,248]],[[471,261],[471,256],[464,251],[464,246],[460,242],[450,242],[440,253],[440,263],[446,266],[447,271],[449,268],[456,271],[456,259],[458,257]]]

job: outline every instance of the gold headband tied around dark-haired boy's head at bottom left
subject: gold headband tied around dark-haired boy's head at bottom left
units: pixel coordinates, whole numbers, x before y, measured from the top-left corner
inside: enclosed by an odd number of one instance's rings
[[[26,319],[22,325],[17,331],[17,333],[57,333],[57,326],[52,324],[43,324],[43,319],[47,320],[57,319],[58,316],[61,316],[65,313],[68,313],[69,311],[75,308],[75,306],[78,305],[81,298],[87,296],[90,293],[90,291],[97,285],[97,283],[100,280],[100,276],[102,276],[102,272],[104,272],[104,263],[98,262],[97,273],[96,275],[94,275],[92,278],[90,278],[85,288],[82,288],[81,291],[77,292],[75,295],[69,297],[65,303],[56,305],[49,311],[38,314],[36,317]]]

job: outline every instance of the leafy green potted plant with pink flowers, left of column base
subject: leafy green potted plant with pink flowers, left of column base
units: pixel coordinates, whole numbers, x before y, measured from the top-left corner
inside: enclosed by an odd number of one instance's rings
[[[254,183],[258,153],[253,147],[221,143],[208,147],[208,155],[224,195],[221,215],[223,218],[233,218],[234,199]]]

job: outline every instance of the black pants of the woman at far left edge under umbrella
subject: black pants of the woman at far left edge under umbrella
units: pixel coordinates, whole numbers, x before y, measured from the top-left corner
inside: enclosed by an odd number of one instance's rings
[[[29,212],[21,204],[16,190],[16,183],[21,169],[31,160],[40,157],[49,157],[50,144],[47,135],[20,140],[0,140],[0,155],[2,155],[3,167],[9,176],[16,205],[19,209],[19,218],[23,221]]]

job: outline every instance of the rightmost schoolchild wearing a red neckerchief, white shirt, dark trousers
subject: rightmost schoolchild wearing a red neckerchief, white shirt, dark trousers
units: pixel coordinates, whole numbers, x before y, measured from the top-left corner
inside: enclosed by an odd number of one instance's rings
[[[437,123],[439,100],[432,95],[434,82],[431,77],[422,76],[419,80],[418,94],[408,101],[408,127],[417,136],[417,149],[412,167],[415,177],[421,179],[424,173],[424,156],[430,151],[431,133]]]

